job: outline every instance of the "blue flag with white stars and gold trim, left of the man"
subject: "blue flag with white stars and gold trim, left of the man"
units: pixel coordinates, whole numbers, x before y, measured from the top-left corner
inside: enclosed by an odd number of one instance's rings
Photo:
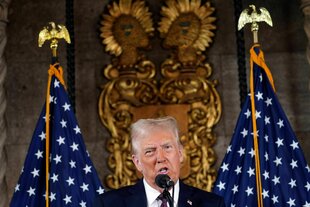
[[[62,69],[51,66],[49,102],[49,193],[46,196],[46,106],[43,107],[28,149],[10,207],[91,206],[103,193],[86,150],[62,79]],[[63,84],[62,84],[63,83]]]

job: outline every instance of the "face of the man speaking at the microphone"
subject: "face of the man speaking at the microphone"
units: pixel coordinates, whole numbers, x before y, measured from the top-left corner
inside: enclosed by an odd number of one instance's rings
[[[155,184],[158,174],[167,174],[174,182],[179,179],[182,148],[170,131],[153,130],[140,140],[137,148],[132,160],[150,186],[160,190]]]

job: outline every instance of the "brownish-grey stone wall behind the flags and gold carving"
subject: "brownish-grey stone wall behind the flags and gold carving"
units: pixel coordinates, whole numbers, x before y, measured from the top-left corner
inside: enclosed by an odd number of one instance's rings
[[[105,83],[103,68],[110,61],[99,37],[99,21],[107,1],[75,1],[76,40],[76,116],[85,143],[100,178],[109,172],[106,166],[105,141],[109,133],[98,116],[100,86]],[[151,11],[160,9],[162,1],[148,1]],[[223,114],[216,127],[218,154],[216,167],[221,163],[230,142],[239,115],[239,89],[234,31],[233,1],[211,1],[216,8],[217,31],[214,43],[207,50],[208,60],[214,70],[213,79],[223,102]],[[251,2],[253,3],[253,2]],[[244,3],[248,5],[248,3]],[[277,94],[293,129],[310,161],[310,91],[309,64],[306,57],[307,38],[303,30],[303,13],[297,1],[268,1],[266,7],[273,18],[274,27],[261,26],[259,41],[265,52],[275,80]],[[158,18],[158,15],[157,17]],[[25,155],[39,113],[44,103],[50,50],[47,45],[38,48],[38,32],[49,21],[65,23],[65,1],[19,0],[12,1],[8,16],[8,42],[6,75],[8,135],[6,181],[11,197],[18,180]],[[247,51],[251,47],[249,28],[245,30]],[[162,62],[167,52],[154,39],[153,50],[147,52],[156,63]],[[64,44],[59,50],[60,62],[66,68]],[[248,57],[248,56],[247,56]],[[1,195],[2,197],[2,195]]]

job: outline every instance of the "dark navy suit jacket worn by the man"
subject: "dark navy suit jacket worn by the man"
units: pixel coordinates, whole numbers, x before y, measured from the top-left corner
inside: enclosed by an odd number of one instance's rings
[[[101,194],[93,207],[146,207],[146,193],[142,180]],[[180,182],[178,207],[225,207],[224,199],[216,194]]]

